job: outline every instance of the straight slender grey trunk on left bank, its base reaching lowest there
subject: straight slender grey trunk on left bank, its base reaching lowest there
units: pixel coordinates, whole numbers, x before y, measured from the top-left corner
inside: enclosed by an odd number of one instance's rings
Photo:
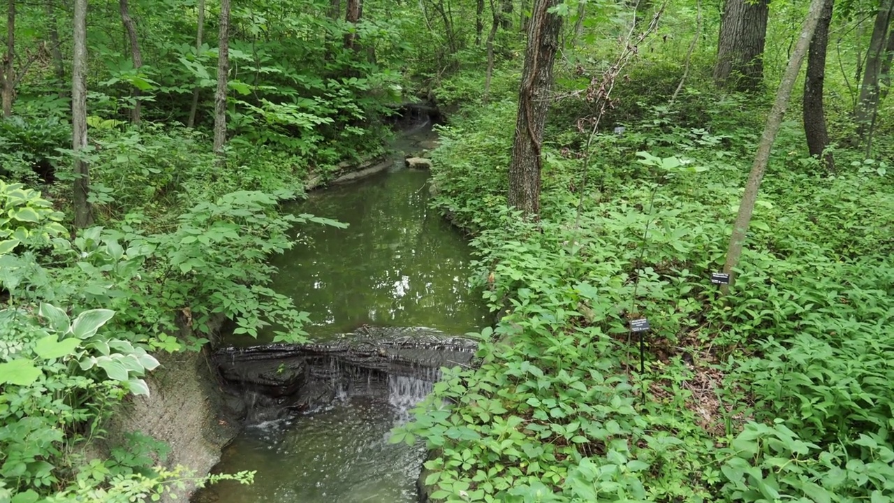
[[[72,150],[74,151],[74,226],[93,224],[88,200],[90,168],[82,158],[87,146],[87,0],[74,0],[72,57]]]

